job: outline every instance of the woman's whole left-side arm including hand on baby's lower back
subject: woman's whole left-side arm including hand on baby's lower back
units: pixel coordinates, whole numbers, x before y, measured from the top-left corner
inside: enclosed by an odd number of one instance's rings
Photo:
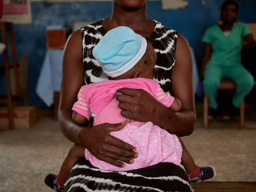
[[[102,124],[82,127],[72,121],[72,107],[77,93],[84,85],[81,32],[75,31],[68,38],[63,53],[60,91],[59,122],[62,133],[80,146],[86,147],[95,157],[116,166],[133,162],[135,147],[112,137],[109,132],[122,129],[125,123]]]

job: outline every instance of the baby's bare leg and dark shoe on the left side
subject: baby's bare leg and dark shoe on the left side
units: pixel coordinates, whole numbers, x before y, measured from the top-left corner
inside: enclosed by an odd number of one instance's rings
[[[66,158],[64,159],[59,174],[55,175],[49,173],[43,175],[45,184],[54,191],[62,192],[64,189],[64,184],[72,167],[76,164],[79,158],[84,157],[84,150],[84,147],[74,144],[73,147],[71,147],[71,149],[69,150]]]

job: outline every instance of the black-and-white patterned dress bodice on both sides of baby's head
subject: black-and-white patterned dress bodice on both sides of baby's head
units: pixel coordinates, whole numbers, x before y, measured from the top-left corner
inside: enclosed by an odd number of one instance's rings
[[[175,65],[178,32],[163,26],[161,22],[155,22],[154,32],[147,37],[157,53],[154,79],[160,84],[164,92],[167,92],[171,90],[171,69]],[[107,31],[102,27],[101,21],[98,21],[81,28],[81,33],[85,84],[107,79],[106,74],[102,72],[99,62],[92,55],[93,47]]]

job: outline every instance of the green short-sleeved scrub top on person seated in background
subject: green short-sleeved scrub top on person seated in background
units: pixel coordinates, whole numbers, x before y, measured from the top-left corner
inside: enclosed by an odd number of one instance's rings
[[[222,31],[218,25],[205,31],[204,43],[212,45],[212,57],[207,65],[232,66],[241,64],[243,37],[252,32],[243,22],[234,23],[230,31]]]

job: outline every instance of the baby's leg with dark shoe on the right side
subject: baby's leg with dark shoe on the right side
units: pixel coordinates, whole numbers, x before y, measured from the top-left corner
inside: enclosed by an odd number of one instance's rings
[[[189,181],[191,183],[202,182],[206,179],[211,179],[216,176],[215,167],[207,166],[207,167],[199,167],[194,162],[193,157],[190,155],[183,141],[179,138],[181,147],[182,147],[182,157],[181,162],[185,166],[187,171]]]

